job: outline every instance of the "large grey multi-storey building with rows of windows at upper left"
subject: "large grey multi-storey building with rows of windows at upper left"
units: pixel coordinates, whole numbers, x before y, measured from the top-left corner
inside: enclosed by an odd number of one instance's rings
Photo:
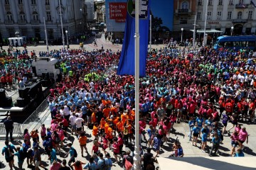
[[[0,40],[14,37],[16,32],[28,39],[45,40],[44,19],[48,39],[61,38],[60,8],[63,30],[68,35],[81,33],[86,26],[83,13],[86,13],[83,0],[1,0],[0,1]],[[83,26],[84,25],[84,26]]]

